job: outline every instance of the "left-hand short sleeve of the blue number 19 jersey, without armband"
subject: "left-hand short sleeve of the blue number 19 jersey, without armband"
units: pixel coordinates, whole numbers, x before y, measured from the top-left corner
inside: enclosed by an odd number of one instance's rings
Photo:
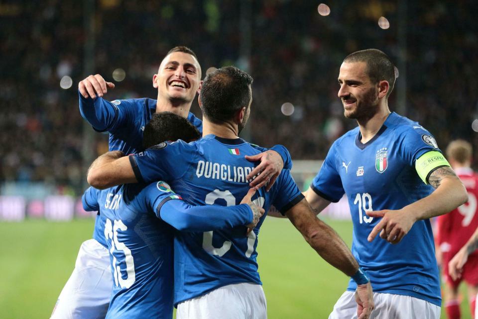
[[[333,203],[337,203],[345,193],[336,165],[336,147],[336,143],[334,143],[310,185],[317,195]]]

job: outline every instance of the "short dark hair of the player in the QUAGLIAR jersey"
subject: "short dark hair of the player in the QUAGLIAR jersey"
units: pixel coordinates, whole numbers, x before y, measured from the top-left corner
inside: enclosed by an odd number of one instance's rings
[[[213,123],[229,121],[251,98],[252,77],[236,67],[223,67],[208,74],[199,98],[202,111]]]

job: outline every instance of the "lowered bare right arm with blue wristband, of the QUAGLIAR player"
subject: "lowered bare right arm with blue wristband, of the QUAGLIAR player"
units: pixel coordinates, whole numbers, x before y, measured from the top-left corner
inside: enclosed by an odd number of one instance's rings
[[[369,318],[374,307],[370,282],[345,242],[332,228],[317,218],[305,199],[289,209],[286,215],[322,258],[357,282],[358,317]]]

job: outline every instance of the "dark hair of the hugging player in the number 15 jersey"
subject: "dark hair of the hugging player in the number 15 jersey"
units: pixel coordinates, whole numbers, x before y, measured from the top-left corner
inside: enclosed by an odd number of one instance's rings
[[[154,113],[144,127],[143,149],[166,141],[196,141],[201,137],[198,129],[187,119],[171,112]]]

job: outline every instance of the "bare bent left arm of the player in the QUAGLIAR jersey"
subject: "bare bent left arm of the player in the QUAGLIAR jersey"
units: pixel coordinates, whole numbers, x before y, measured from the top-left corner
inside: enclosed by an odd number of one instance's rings
[[[88,169],[87,179],[98,189],[138,182],[128,157],[120,151],[107,152],[96,159]]]

